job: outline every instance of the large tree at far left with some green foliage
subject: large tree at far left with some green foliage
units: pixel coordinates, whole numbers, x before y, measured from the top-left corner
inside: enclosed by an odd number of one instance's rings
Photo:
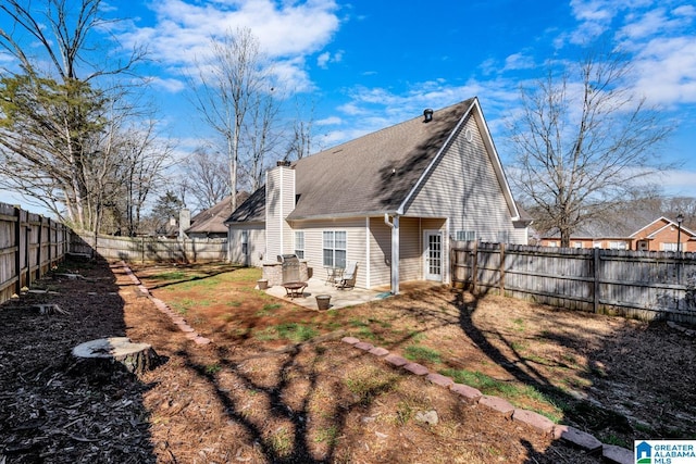
[[[97,51],[91,37],[110,23],[100,5],[101,0],[0,3],[10,24],[0,28],[0,48],[15,67],[4,70],[0,85],[2,185],[84,229],[97,227],[104,204],[100,188],[113,164],[101,137],[116,96],[123,96],[99,89],[97,80],[130,73],[144,57],[134,50],[123,61],[104,60],[108,53]]]

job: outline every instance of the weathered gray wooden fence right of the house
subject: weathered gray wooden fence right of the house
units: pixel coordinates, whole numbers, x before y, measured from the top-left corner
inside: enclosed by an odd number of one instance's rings
[[[696,324],[696,253],[455,241],[452,284],[570,310]]]

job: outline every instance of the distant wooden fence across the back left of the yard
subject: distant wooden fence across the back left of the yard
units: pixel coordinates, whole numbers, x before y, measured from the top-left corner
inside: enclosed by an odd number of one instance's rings
[[[161,239],[72,233],[70,251],[98,254],[108,261],[196,263],[225,261],[227,239]]]

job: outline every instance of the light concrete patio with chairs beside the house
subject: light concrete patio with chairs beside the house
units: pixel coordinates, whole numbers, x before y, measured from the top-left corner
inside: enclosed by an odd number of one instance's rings
[[[340,308],[355,306],[356,304],[366,303],[369,301],[382,300],[391,296],[388,290],[366,290],[364,288],[336,288],[331,284],[326,284],[324,279],[310,278],[307,287],[302,291],[301,297],[290,298],[285,287],[276,285],[265,290],[268,294],[275,298],[291,301],[300,306],[310,310],[319,310],[316,305],[318,294],[327,294],[331,297],[330,310],[338,310]]]

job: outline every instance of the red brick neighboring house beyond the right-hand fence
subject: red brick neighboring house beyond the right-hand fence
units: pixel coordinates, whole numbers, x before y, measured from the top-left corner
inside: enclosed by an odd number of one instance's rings
[[[667,217],[659,217],[630,236],[582,234],[571,237],[571,248],[606,248],[610,250],[634,251],[679,251],[696,252],[696,233]],[[542,247],[560,247],[560,237],[542,237]]]

